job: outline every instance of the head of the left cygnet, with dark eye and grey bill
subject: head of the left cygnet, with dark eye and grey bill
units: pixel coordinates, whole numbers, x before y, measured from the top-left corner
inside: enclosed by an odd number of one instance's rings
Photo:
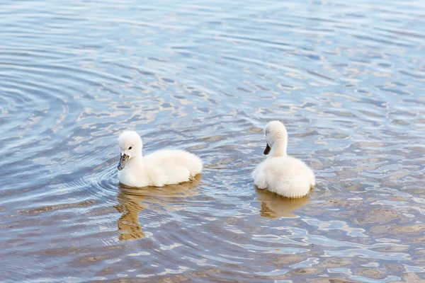
[[[118,146],[120,146],[120,163],[118,170],[124,169],[125,164],[131,158],[142,155],[142,139],[134,131],[125,131],[118,137]]]

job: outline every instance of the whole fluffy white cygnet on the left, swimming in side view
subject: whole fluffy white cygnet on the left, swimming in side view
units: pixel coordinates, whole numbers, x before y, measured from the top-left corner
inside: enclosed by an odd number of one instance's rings
[[[142,156],[142,139],[126,131],[118,138],[118,180],[129,187],[163,187],[192,180],[203,168],[195,154],[183,150],[160,150]]]

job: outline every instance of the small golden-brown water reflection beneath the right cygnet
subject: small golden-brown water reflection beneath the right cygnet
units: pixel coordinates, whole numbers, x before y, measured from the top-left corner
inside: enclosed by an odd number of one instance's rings
[[[299,198],[288,198],[256,188],[258,199],[261,201],[260,214],[263,217],[278,219],[280,217],[295,217],[294,212],[309,203],[310,195]]]

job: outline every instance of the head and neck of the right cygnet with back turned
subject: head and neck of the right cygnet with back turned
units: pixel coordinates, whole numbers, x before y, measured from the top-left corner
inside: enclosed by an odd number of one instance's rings
[[[288,146],[288,132],[286,132],[285,125],[279,121],[268,122],[264,128],[264,134],[266,134],[267,141],[264,154],[267,155],[271,151],[271,157],[285,156]]]

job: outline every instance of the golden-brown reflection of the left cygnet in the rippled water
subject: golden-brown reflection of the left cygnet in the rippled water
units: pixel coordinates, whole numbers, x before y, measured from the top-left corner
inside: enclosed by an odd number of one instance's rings
[[[187,183],[168,185],[166,187],[140,187],[130,188],[120,184],[118,204],[115,209],[123,215],[118,219],[120,241],[136,240],[145,238],[142,225],[139,221],[139,213],[149,204],[161,204],[162,207],[170,207],[170,204],[179,204],[176,199],[197,195],[196,187],[200,184],[200,175]]]

